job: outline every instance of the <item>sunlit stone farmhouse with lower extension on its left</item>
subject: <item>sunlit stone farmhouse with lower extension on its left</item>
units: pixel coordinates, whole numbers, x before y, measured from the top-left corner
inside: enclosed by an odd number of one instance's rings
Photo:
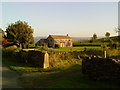
[[[72,39],[68,35],[49,35],[47,39],[40,39],[36,46],[72,47]]]

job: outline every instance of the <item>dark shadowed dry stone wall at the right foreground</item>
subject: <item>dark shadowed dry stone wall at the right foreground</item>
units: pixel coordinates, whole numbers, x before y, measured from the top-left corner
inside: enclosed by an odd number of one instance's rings
[[[93,80],[120,80],[120,60],[87,57],[82,61],[82,73]]]

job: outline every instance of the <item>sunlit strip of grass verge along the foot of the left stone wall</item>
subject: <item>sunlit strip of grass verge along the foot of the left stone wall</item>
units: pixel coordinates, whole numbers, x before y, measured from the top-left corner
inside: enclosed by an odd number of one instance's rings
[[[33,65],[27,65],[27,64],[24,64],[24,63],[19,63],[19,62],[16,62],[12,58],[2,58],[2,62],[4,64],[6,64],[9,68],[11,68],[12,70],[16,71],[20,75],[23,74],[23,73],[27,73],[27,72],[42,72],[42,71],[52,70],[50,68],[43,69],[43,68],[35,67]]]

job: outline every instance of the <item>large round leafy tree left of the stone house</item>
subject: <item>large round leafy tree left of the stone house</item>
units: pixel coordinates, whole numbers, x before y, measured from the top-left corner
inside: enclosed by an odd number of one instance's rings
[[[7,39],[9,42],[19,44],[22,48],[26,48],[34,43],[33,29],[27,22],[17,21],[8,25],[6,29]]]

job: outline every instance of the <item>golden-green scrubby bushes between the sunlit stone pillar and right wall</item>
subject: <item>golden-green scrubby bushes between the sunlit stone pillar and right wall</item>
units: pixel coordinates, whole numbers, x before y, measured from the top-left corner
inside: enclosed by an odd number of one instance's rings
[[[50,66],[59,68],[70,64],[80,64],[80,57],[77,57],[77,55],[75,55],[75,52],[50,53]]]

